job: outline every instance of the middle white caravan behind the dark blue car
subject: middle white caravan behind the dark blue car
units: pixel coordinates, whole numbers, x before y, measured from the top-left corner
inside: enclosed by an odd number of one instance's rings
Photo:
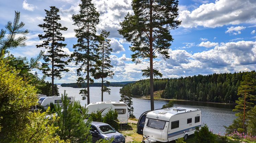
[[[105,116],[110,109],[115,110],[118,114],[119,124],[128,123],[128,108],[124,102],[93,102],[88,104],[86,108],[88,109],[88,114],[96,113],[99,110],[102,116]]]

